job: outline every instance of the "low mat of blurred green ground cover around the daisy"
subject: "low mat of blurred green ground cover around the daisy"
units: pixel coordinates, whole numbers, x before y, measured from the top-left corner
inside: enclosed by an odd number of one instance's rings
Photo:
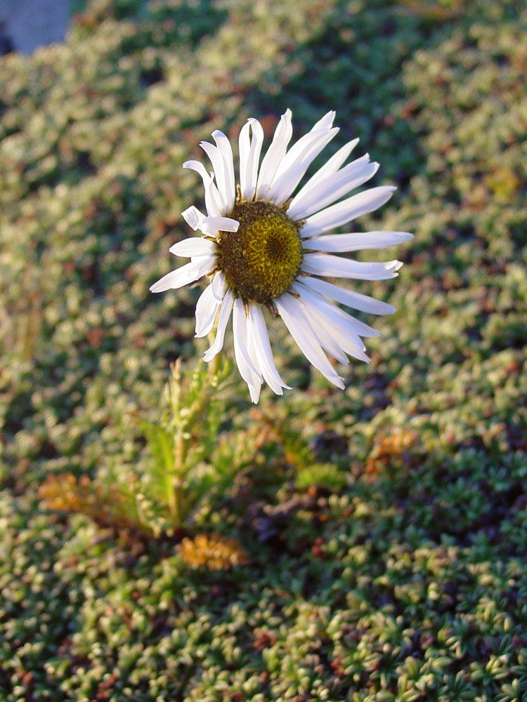
[[[96,0],[0,59],[2,702],[527,698],[527,11],[462,5]],[[191,532],[249,562],[193,569],[39,486],[143,484],[138,420],[204,349],[199,288],[148,292],[202,199],[181,164],[286,107],[337,110],[399,188],[363,225],[415,239],[360,288],[397,312],[345,392],[278,322],[294,392],[226,395]]]

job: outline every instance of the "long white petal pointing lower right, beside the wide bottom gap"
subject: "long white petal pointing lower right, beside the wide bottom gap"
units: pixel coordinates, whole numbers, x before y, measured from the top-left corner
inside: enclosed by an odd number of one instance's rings
[[[320,348],[318,338],[315,336],[311,326],[309,326],[300,301],[292,295],[289,295],[289,293],[284,293],[280,298],[276,298],[274,303],[285,326],[289,329],[289,333],[296,341],[306,359],[308,359],[327,380],[330,380],[330,383],[344,390],[342,378],[337,375],[333,366],[328,361],[327,356]]]

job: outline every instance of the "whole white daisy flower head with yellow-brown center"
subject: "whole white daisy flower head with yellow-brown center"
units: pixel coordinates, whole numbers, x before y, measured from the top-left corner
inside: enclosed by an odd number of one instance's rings
[[[202,236],[171,247],[171,253],[190,258],[190,263],[162,277],[150,290],[160,293],[203,275],[209,278],[196,305],[196,336],[206,336],[216,324],[216,337],[204,360],[211,361],[223,348],[232,312],[235,359],[253,402],[258,402],[264,380],[277,395],[289,388],[275,367],[263,307],[282,317],[301,352],[338,388],[344,388],[344,379],[325,352],[343,364],[348,364],[348,356],[368,361],[361,337],[379,332],[332,300],[360,312],[395,311],[323,279],[393,278],[400,261],[362,263],[335,254],[384,249],[412,238],[408,232],[327,234],[376,210],[396,190],[385,185],[349,196],[379,168],[368,154],[343,165],[358,139],[341,147],[292,197],[310,164],[339,131],[333,120],[334,112],[328,112],[287,150],[292,137],[287,110],[260,164],[263,129],[259,121],[249,119],[240,132],[239,185],[233,151],[221,131],[212,133],[216,145],[201,143],[212,163],[211,173],[200,161],[183,164],[203,180],[207,215],[194,206],[182,213]]]

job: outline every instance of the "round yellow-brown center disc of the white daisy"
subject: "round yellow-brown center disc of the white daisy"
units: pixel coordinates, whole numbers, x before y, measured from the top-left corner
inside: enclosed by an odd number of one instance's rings
[[[221,232],[218,267],[242,300],[270,305],[299,273],[298,227],[270,202],[238,202],[229,217],[240,227],[238,232]]]

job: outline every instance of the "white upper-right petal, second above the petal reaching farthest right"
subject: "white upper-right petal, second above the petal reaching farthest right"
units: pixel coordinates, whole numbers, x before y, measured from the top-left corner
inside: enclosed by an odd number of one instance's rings
[[[304,219],[313,214],[313,212],[318,212],[344,197],[350,190],[366,183],[379,170],[379,164],[375,161],[368,163],[367,159],[368,156],[366,154],[363,159],[353,161],[342,168],[341,171],[337,171],[337,173],[333,173],[332,176],[322,180],[318,185],[311,188],[307,194],[304,194],[303,197],[300,198],[298,195],[294,197],[289,208],[287,208],[288,216],[294,220]]]

